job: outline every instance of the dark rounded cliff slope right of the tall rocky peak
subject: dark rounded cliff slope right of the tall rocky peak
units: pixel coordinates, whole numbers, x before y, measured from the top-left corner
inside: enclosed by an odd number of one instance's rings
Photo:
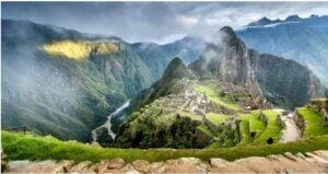
[[[324,96],[324,86],[306,67],[256,50],[249,50],[249,58],[263,96],[273,104],[294,108]]]

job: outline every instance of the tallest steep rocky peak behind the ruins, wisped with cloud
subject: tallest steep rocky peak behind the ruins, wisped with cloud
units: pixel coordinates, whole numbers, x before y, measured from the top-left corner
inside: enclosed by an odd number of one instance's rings
[[[231,27],[221,28],[201,57],[189,68],[200,78],[232,82],[246,86],[255,96],[260,95],[248,49]]]

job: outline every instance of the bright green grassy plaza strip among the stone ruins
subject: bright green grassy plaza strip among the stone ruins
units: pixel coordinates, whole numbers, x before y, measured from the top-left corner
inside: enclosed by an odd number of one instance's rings
[[[194,84],[196,91],[200,93],[204,93],[209,100],[215,102],[219,105],[222,105],[226,108],[239,111],[239,105],[232,103],[227,97],[220,97],[220,91],[218,88],[212,85],[201,85],[201,84]]]

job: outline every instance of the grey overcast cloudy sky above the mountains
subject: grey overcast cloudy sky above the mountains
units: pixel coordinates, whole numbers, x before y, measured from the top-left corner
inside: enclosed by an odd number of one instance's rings
[[[164,44],[185,35],[239,30],[262,16],[328,14],[328,2],[2,2],[2,19],[30,20],[128,42]]]

